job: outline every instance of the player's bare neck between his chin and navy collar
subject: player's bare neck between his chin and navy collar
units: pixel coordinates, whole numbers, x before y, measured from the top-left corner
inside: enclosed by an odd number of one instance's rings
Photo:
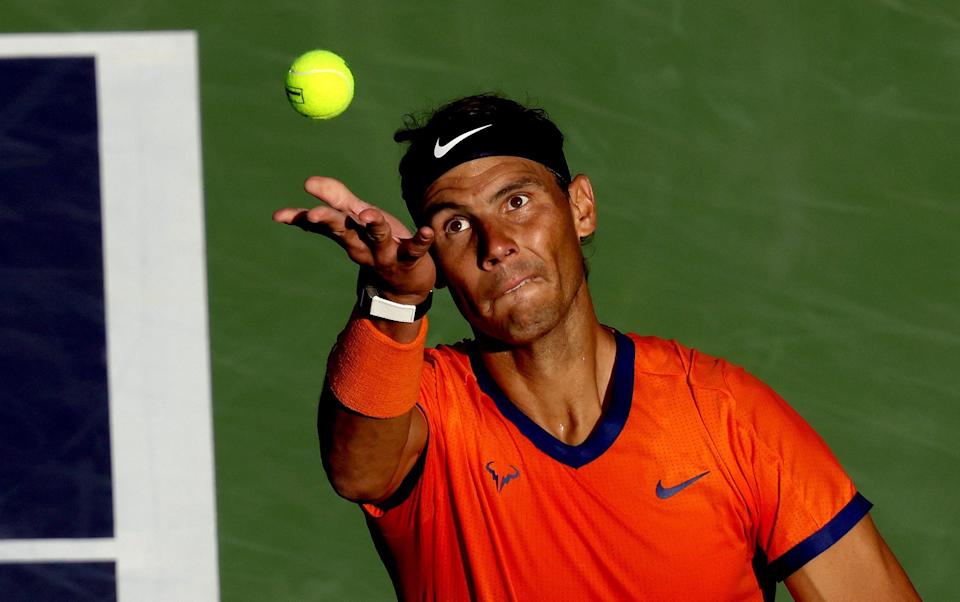
[[[584,285],[548,332],[510,347],[481,345],[481,358],[506,396],[570,445],[582,443],[603,412],[616,343],[597,320]]]

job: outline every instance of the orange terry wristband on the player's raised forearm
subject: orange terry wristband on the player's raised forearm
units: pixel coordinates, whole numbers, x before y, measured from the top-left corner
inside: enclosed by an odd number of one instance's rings
[[[427,319],[417,338],[398,343],[367,319],[354,319],[327,360],[327,382],[337,400],[371,418],[406,414],[420,396]]]

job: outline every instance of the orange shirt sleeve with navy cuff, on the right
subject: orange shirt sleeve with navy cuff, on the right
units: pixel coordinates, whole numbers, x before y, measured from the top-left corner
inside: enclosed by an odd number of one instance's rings
[[[836,456],[773,389],[719,361],[731,402],[735,461],[750,489],[758,547],[782,581],[869,512]]]

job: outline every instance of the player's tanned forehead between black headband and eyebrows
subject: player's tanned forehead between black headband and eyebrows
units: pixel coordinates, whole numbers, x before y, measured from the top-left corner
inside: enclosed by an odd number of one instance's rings
[[[521,180],[547,190],[556,186],[553,173],[536,161],[511,156],[483,157],[461,163],[437,178],[427,188],[423,209],[440,201],[482,198],[495,194],[505,184]]]

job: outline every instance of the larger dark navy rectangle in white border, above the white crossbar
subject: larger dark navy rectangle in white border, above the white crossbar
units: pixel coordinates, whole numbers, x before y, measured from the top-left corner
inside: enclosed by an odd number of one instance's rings
[[[97,115],[93,57],[0,60],[0,539],[113,535]]]

